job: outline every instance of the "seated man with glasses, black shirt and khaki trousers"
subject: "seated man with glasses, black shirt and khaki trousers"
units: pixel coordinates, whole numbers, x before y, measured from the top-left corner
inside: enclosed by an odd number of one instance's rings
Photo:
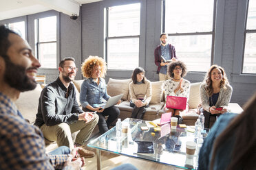
[[[43,136],[49,141],[56,141],[58,147],[70,149],[81,147],[78,152],[85,158],[93,157],[84,145],[98,123],[98,115],[83,112],[76,101],[76,91],[71,83],[76,77],[74,58],[65,58],[58,66],[59,77],[55,82],[45,86],[39,98],[39,107],[34,125],[40,127]],[[72,141],[72,133],[78,132],[76,141]]]

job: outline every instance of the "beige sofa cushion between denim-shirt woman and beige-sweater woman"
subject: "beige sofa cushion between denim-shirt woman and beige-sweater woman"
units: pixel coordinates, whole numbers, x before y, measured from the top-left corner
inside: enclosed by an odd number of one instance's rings
[[[109,82],[107,83],[107,94],[110,96],[124,94],[122,100],[127,100],[130,82],[131,79],[116,80],[109,78]]]

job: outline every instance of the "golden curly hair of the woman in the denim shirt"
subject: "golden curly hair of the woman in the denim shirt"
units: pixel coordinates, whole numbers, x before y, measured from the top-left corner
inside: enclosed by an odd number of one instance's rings
[[[103,58],[98,56],[89,56],[89,58],[85,59],[85,62],[83,62],[81,66],[83,76],[87,78],[92,77],[92,71],[96,65],[100,66],[100,77],[105,77],[107,72],[107,63]]]

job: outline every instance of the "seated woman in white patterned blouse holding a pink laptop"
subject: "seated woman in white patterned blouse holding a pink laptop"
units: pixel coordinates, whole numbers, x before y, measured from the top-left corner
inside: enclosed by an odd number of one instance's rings
[[[186,75],[186,65],[182,61],[171,62],[168,65],[168,74],[171,79],[164,82],[165,101],[167,101],[167,96],[186,97],[186,111],[189,110],[187,102],[189,101],[190,82],[182,78]],[[172,112],[173,117],[178,117],[178,123],[182,123],[180,112],[184,110],[167,108],[166,111]]]

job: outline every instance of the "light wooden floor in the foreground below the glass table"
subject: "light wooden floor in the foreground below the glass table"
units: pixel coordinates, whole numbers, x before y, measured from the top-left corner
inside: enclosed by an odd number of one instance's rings
[[[83,170],[96,170],[97,169],[97,158],[86,158],[86,165],[82,167]],[[101,151],[101,169],[109,170],[118,165],[125,163],[130,163],[137,167],[139,170],[178,170],[167,165],[161,165],[156,162],[149,162],[147,160],[139,160],[136,158],[129,158],[127,156],[119,156],[117,154],[112,154],[107,151]]]

